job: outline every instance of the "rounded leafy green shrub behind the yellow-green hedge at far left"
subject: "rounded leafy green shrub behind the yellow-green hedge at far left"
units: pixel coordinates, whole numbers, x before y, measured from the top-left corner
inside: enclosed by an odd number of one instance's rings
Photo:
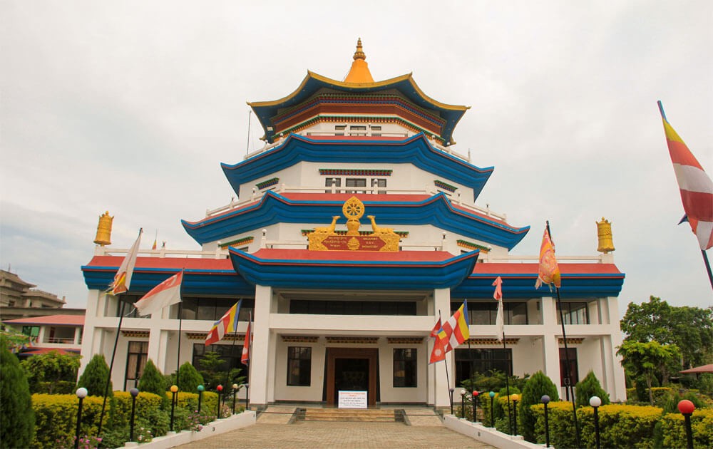
[[[78,354],[49,351],[20,362],[32,393],[74,393],[79,369]]]

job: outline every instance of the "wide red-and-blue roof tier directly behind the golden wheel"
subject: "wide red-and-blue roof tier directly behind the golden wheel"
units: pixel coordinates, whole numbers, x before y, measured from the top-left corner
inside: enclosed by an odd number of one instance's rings
[[[255,229],[284,223],[329,222],[342,215],[342,206],[350,197],[364,202],[370,215],[390,227],[431,224],[439,229],[488,244],[512,249],[525,237],[530,227],[513,227],[502,220],[453,205],[443,192],[436,195],[373,195],[295,193],[280,195],[267,191],[260,200],[197,222],[182,220],[186,232],[200,244],[215,242]],[[346,219],[345,219],[346,220]]]

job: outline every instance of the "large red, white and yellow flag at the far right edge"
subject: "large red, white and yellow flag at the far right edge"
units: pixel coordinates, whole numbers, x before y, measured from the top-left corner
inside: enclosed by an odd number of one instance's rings
[[[673,171],[681,191],[683,210],[686,211],[688,223],[698,238],[701,250],[705,251],[713,247],[713,182],[668,123],[663,106],[661,102],[658,103]]]

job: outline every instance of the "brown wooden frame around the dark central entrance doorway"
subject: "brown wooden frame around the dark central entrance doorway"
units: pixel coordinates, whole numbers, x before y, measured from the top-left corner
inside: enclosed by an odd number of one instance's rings
[[[366,398],[369,406],[376,406],[376,361],[379,358],[379,349],[363,348],[327,348],[327,404],[336,405],[337,381],[342,382],[342,373],[338,373],[337,366],[361,366],[363,361],[369,364],[367,370],[369,379],[366,381]],[[337,363],[337,360],[340,362]],[[347,360],[342,360],[347,359]],[[353,361],[353,362],[350,362]],[[361,363],[359,363],[361,362]]]

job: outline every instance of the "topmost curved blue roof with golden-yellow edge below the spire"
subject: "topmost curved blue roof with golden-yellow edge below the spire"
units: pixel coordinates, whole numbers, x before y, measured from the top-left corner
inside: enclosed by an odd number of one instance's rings
[[[416,81],[414,81],[412,73],[384,81],[354,83],[333,80],[332,78],[318,75],[312,71],[307,71],[307,76],[304,77],[302,83],[288,96],[280,98],[279,100],[255,101],[252,103],[248,102],[247,104],[255,111],[255,115],[257,115],[258,120],[260,120],[262,129],[265,130],[265,140],[272,143],[275,140],[275,133],[277,132],[272,125],[272,118],[285,108],[292,108],[308,100],[320,89],[324,88],[344,93],[378,93],[380,91],[396,89],[415,105],[427,110],[433,110],[437,115],[443,118],[443,120],[446,120],[446,123],[443,125],[441,137],[451,144],[453,143],[453,129],[456,128],[456,124],[461,120],[466,110],[470,108],[470,106],[448,105],[427,96],[424,91],[421,91]]]

